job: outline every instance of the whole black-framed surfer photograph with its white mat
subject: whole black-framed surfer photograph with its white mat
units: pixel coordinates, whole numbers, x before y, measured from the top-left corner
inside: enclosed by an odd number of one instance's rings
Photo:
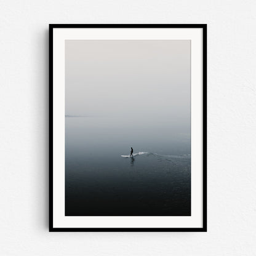
[[[206,231],[207,25],[49,25],[50,231]]]

